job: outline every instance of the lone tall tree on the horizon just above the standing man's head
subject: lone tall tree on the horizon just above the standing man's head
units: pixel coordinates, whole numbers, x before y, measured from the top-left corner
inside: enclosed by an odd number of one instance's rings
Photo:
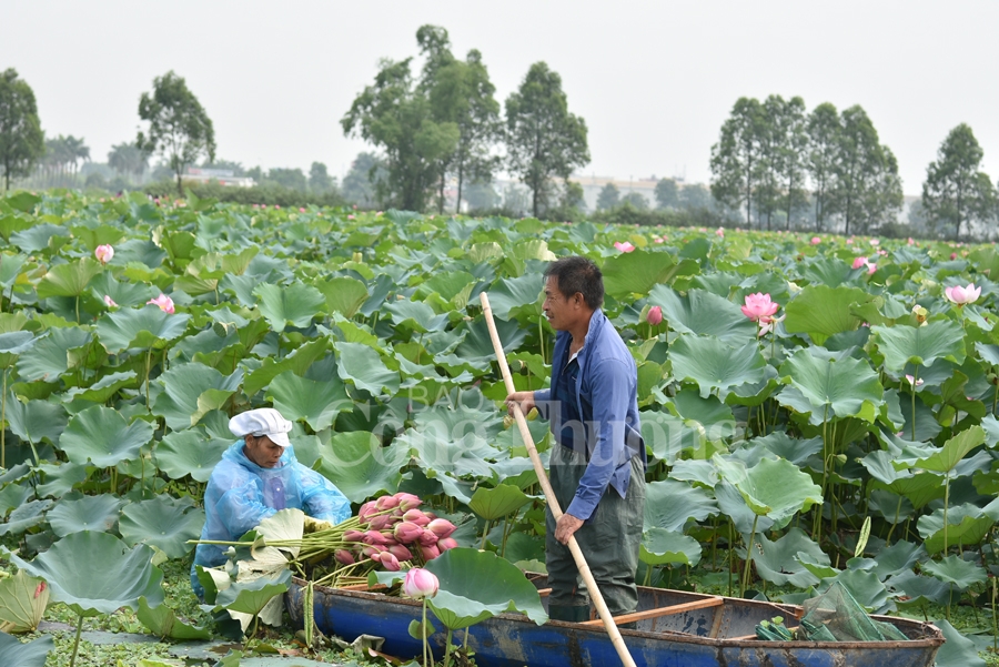
[[[553,178],[568,180],[589,163],[586,122],[569,113],[562,77],[544,62],[531,65],[506,99],[506,150],[509,172],[531,190],[535,216],[548,204]]]

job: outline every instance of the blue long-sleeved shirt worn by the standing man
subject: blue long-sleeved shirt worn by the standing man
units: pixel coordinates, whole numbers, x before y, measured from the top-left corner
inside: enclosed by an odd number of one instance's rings
[[[639,455],[645,463],[645,443],[638,421],[638,371],[614,325],[603,311],[595,311],[583,348],[573,363],[567,363],[572,340],[569,332],[558,332],[552,388],[534,392],[534,402],[542,416],[551,421],[555,442],[587,456],[586,472],[565,509],[586,521],[608,486],[625,497],[632,479],[629,462]],[[578,367],[574,368],[574,365]],[[556,395],[565,373],[575,375],[575,382],[569,383],[575,384],[572,392],[575,406],[571,410],[563,408]],[[571,417],[582,421],[582,425],[566,420],[569,412],[574,413]]]

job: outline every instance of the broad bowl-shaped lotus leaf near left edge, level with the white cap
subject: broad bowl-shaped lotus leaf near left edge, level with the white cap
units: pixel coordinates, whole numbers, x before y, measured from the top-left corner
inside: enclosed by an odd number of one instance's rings
[[[94,405],[73,415],[57,446],[72,463],[108,467],[138,458],[139,449],[152,439],[153,429],[149,422],[135,420],[129,424],[118,411]]]

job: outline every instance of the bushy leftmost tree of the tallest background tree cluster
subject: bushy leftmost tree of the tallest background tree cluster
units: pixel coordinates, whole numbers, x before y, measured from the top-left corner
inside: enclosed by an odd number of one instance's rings
[[[436,122],[426,94],[414,85],[412,59],[383,61],[373,85],[359,94],[341,119],[347,137],[361,137],[384,152],[387,178],[377,198],[401,209],[424,210],[441,180],[441,161],[454,152],[460,130]]]

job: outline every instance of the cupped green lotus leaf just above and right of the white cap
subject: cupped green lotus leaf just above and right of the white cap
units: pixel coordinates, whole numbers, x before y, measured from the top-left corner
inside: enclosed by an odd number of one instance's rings
[[[329,428],[336,415],[353,410],[353,403],[340,377],[314,381],[285,371],[271,381],[266,397],[292,422],[304,421],[313,431]]]

